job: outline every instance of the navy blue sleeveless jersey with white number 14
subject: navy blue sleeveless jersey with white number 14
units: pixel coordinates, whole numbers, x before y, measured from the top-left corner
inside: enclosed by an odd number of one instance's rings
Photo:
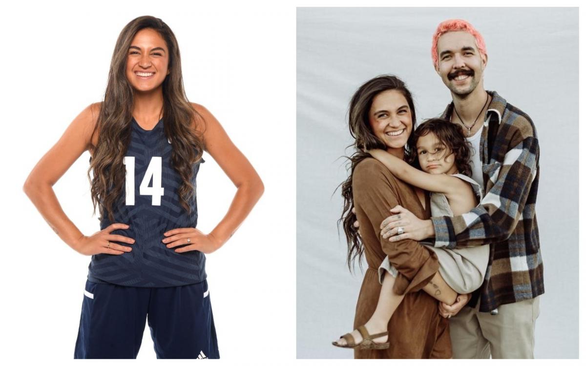
[[[171,163],[172,141],[165,136],[163,120],[147,131],[132,118],[131,142],[124,158],[126,168],[122,197],[114,206],[114,221],[107,214],[100,219],[103,230],[113,223],[130,225],[112,234],[134,238],[132,248],[120,255],[91,257],[88,281],[122,286],[168,287],[190,285],[206,279],[206,258],[202,252],[176,253],[162,242],[164,232],[197,225],[195,192],[188,213],[179,201],[182,182]],[[200,160],[203,162],[203,159]],[[193,165],[195,187],[200,162]]]

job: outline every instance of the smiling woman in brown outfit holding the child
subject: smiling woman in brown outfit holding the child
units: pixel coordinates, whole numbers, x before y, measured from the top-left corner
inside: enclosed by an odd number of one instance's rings
[[[421,218],[430,217],[429,197],[421,190],[396,179],[379,161],[363,150],[384,149],[404,160],[413,152],[406,150],[413,138],[415,109],[411,93],[403,81],[394,76],[380,76],[367,81],[350,101],[350,134],[356,152],[350,157],[350,177],[342,184],[345,200],[342,221],[348,244],[347,261],[366,255],[367,269],[356,305],[355,329],[372,316],[380,293],[377,269],[385,257],[398,270],[393,289],[405,295],[389,321],[389,348],[361,350],[355,358],[450,358],[448,321],[438,313],[435,295],[448,293],[438,273],[437,256],[418,242],[389,242],[380,235],[380,224],[390,208],[407,208]],[[352,211],[355,210],[356,214]],[[354,225],[360,223],[360,235]],[[423,289],[424,291],[419,291]],[[441,291],[440,291],[441,292]],[[445,300],[445,299],[444,299]],[[377,334],[384,337],[387,334]],[[368,329],[353,332],[353,339],[376,337]]]

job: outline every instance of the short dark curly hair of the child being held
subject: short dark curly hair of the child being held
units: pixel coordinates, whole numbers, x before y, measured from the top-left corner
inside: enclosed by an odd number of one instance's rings
[[[417,152],[417,140],[421,136],[425,136],[432,132],[437,136],[441,143],[446,147],[444,155],[438,157],[438,159],[446,158],[451,153],[454,153],[454,163],[458,169],[458,173],[465,176],[472,176],[472,168],[470,167],[470,152],[472,145],[464,137],[462,128],[447,119],[443,118],[430,118],[423,124],[417,126],[414,133],[414,139],[411,142],[410,149],[413,152]],[[417,169],[421,169],[417,153],[411,156],[410,163]]]

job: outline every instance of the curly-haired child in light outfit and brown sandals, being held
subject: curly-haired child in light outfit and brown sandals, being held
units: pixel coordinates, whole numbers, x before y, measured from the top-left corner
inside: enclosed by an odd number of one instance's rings
[[[414,137],[415,146],[410,148],[417,152],[417,159],[412,162],[415,167],[384,150],[370,150],[369,153],[399,179],[430,191],[432,216],[458,216],[476,207],[482,198],[482,189],[469,177],[469,144],[462,129],[445,119],[434,118],[418,126]],[[423,288],[425,292],[443,302],[453,303],[456,293],[470,293],[482,285],[488,265],[488,245],[462,249],[427,248],[438,256],[439,273],[453,291],[442,294],[432,279]],[[397,270],[390,264],[389,258],[385,258],[379,267],[382,286],[372,317],[352,333],[332,342],[334,346],[359,349],[389,347],[387,324],[403,300],[403,295],[393,292],[396,275]]]

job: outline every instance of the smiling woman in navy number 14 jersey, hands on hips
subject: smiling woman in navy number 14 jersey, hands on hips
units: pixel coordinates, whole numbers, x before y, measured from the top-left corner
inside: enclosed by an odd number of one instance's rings
[[[90,236],[64,214],[52,189],[86,150],[101,227]],[[237,187],[209,234],[196,228],[203,150]],[[136,358],[147,313],[158,358],[219,358],[204,254],[222,247],[263,190],[216,118],[187,100],[172,30],[152,16],[128,23],[104,101],[74,119],[25,182],[57,235],[92,256],[75,358]]]

